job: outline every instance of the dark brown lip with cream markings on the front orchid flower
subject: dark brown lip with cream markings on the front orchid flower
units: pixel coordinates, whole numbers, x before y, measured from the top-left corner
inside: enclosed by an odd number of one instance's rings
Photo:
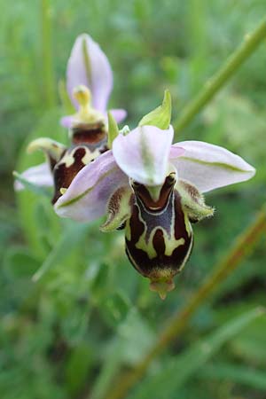
[[[174,288],[172,278],[192,251],[192,226],[175,182],[173,176],[167,177],[158,200],[144,185],[132,184],[135,203],[126,225],[126,252],[157,291],[157,284],[166,284],[166,291]]]

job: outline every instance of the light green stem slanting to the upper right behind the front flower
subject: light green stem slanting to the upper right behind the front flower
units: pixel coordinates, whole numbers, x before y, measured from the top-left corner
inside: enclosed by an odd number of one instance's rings
[[[176,134],[184,129],[207,102],[215,96],[217,91],[237,72],[239,67],[250,57],[265,37],[266,20],[262,20],[262,23],[252,34],[246,35],[244,43],[240,45],[237,51],[233,52],[221,69],[206,82],[198,96],[184,107],[176,121],[173,122]]]

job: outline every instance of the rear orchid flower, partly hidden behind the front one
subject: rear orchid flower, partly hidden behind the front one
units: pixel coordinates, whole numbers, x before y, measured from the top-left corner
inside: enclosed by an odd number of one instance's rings
[[[106,106],[113,89],[113,73],[105,53],[89,35],[77,37],[66,68],[66,86],[77,113],[65,116],[61,123],[69,128],[71,144],[61,145],[48,137],[36,139],[27,147],[32,153],[43,150],[47,161],[28,168],[22,180],[36,185],[54,186],[52,203],[71,184],[74,176],[106,150]],[[112,113],[117,122],[126,116],[123,109]],[[17,180],[15,189],[23,189]]]

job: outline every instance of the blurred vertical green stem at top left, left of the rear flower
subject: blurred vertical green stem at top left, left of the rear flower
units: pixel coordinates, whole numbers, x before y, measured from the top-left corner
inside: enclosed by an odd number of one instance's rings
[[[47,107],[56,105],[56,87],[51,51],[51,5],[50,0],[42,0],[42,66],[43,95]]]

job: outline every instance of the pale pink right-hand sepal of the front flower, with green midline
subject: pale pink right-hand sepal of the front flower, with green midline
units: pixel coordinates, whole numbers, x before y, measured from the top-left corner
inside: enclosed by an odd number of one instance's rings
[[[177,145],[182,146],[185,153],[175,158],[171,152],[170,161],[178,176],[194,184],[200,192],[244,182],[255,174],[255,169],[246,160],[218,145],[201,141],[183,141]]]

